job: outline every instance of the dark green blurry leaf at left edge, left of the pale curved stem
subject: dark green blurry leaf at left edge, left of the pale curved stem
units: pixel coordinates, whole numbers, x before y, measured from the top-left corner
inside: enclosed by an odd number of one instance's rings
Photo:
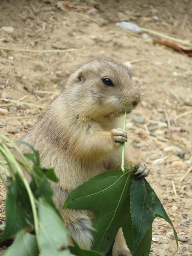
[[[19,230],[33,223],[30,199],[18,174],[13,178],[9,178],[5,211],[6,227],[0,241],[13,236]]]

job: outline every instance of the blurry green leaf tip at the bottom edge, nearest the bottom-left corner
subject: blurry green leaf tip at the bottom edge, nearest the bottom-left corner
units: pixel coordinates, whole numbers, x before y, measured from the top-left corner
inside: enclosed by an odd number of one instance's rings
[[[4,252],[3,256],[38,256],[36,236],[20,230],[13,244]]]

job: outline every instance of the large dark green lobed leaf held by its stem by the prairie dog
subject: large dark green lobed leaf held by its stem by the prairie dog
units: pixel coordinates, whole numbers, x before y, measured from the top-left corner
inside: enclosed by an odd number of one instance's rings
[[[118,170],[99,174],[76,188],[63,206],[67,207],[94,211],[93,249],[104,254],[110,249],[120,227],[134,256],[150,254],[154,218],[160,216],[173,227],[146,179],[132,179],[128,172]],[[176,238],[175,230],[174,235]]]

